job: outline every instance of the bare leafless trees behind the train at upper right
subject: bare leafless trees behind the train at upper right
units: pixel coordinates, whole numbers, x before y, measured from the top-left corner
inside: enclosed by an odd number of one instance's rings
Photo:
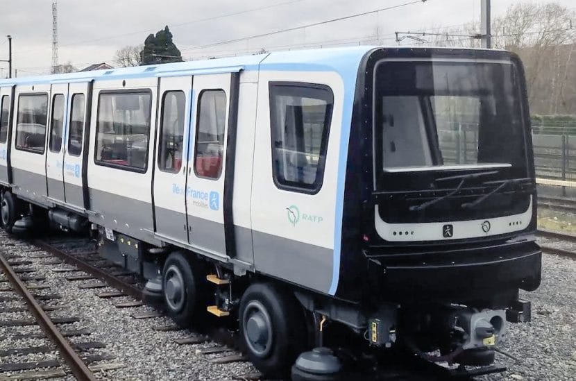
[[[575,11],[559,3],[518,1],[492,22],[495,49],[517,53],[525,67],[532,112],[576,113]],[[417,35],[434,46],[480,47],[480,24]]]

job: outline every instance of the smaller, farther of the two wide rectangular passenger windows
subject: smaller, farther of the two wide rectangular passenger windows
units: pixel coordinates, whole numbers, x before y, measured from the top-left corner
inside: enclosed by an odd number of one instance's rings
[[[20,95],[16,121],[16,149],[38,154],[44,153],[47,121],[48,95]]]

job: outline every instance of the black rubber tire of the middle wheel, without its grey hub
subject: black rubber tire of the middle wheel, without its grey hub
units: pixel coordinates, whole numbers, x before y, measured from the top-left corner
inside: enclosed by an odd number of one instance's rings
[[[169,266],[175,265],[183,276],[185,283],[185,303],[179,311],[172,310],[164,293],[164,276]],[[188,255],[178,251],[171,253],[162,269],[162,301],[168,315],[180,327],[188,328],[191,325],[200,325],[201,316],[205,316],[206,287],[202,280],[205,278],[199,262],[192,261]]]

